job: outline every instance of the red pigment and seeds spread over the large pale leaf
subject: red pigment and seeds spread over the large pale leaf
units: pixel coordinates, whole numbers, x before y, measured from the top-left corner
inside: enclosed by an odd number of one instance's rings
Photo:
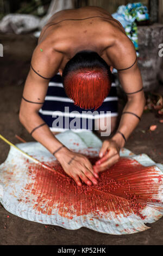
[[[98,157],[89,159],[95,164]],[[162,203],[158,192],[163,175],[155,167],[142,166],[135,160],[121,158],[101,173],[97,185],[83,184],[82,187],[68,177],[58,161],[49,165],[57,172],[30,164],[29,176],[32,175],[33,183],[25,188],[26,196],[32,193],[35,197],[34,209],[42,214],[52,215],[57,208],[60,216],[69,219],[86,214],[102,218],[110,211],[115,217],[134,213],[144,219],[146,216],[141,212],[145,206],[159,208]],[[153,179],[158,179],[158,183]]]

